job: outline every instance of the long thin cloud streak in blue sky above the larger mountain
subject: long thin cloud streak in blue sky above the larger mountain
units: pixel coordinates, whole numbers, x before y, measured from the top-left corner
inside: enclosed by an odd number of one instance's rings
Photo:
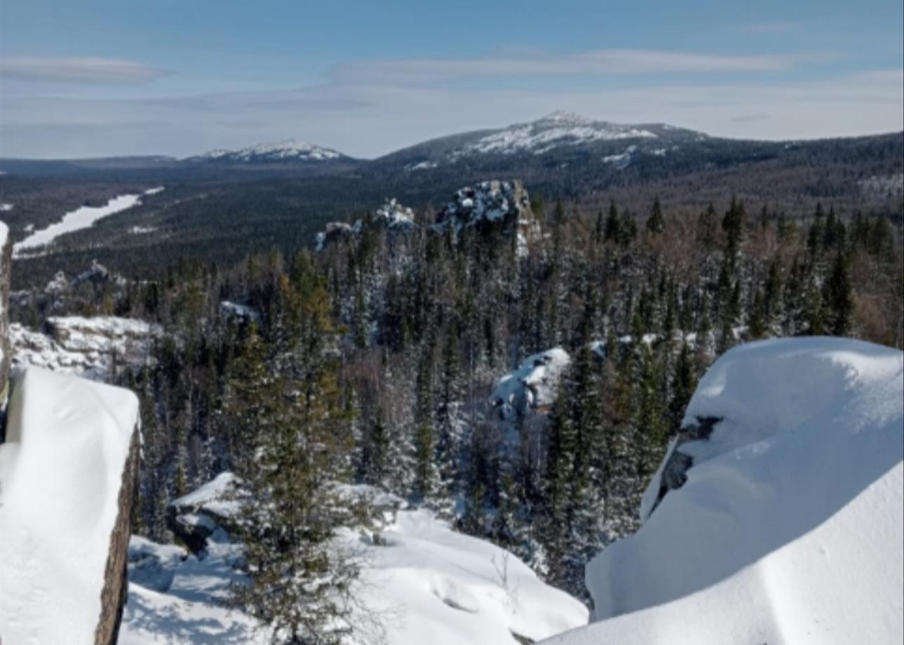
[[[525,51],[485,58],[353,61],[330,72],[337,82],[419,84],[492,77],[576,74],[681,74],[787,70],[799,56],[731,56],[694,51],[610,49],[573,54]]]

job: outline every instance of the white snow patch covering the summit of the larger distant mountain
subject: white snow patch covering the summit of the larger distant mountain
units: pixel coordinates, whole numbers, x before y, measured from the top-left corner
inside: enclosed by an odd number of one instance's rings
[[[655,138],[640,126],[623,126],[607,121],[594,121],[569,112],[553,112],[532,123],[505,127],[483,136],[455,155],[466,153],[543,154],[560,145],[588,144],[594,141]]]

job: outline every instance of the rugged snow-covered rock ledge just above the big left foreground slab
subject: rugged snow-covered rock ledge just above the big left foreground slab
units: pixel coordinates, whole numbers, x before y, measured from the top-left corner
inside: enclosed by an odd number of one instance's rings
[[[28,366],[106,380],[114,367],[140,367],[151,360],[162,333],[155,323],[116,316],[52,316],[44,331],[10,325],[13,367]]]

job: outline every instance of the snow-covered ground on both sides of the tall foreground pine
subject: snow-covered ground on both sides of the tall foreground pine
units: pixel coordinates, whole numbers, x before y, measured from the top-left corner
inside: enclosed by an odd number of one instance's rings
[[[267,642],[250,616],[222,606],[228,585],[241,579],[240,546],[211,523],[234,509],[221,499],[230,481],[221,474],[174,502],[186,521],[214,528],[201,559],[133,538],[120,645]],[[387,645],[516,645],[515,635],[540,640],[586,624],[581,603],[542,583],[503,549],[453,531],[426,509],[392,516],[388,511],[380,540],[352,530],[336,540],[360,558],[357,595],[368,622],[381,623]]]

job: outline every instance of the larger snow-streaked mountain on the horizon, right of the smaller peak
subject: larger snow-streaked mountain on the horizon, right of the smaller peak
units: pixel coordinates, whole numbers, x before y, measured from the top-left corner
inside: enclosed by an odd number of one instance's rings
[[[610,164],[633,154],[664,156],[679,145],[710,140],[700,132],[666,124],[617,124],[557,111],[530,123],[444,136],[388,154],[384,164],[426,170],[461,161],[485,163],[497,156],[549,156],[592,151]]]

